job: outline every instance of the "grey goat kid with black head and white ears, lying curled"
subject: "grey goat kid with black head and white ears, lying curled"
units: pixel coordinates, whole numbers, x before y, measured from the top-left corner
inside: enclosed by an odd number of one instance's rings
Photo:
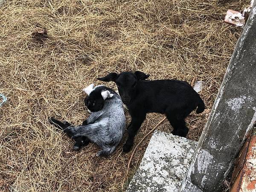
[[[97,156],[108,156],[121,142],[125,131],[123,104],[120,96],[114,90],[103,85],[93,86],[90,84],[84,89],[84,92],[87,93],[85,105],[91,115],[82,125],[73,126],[53,117],[49,119],[49,122],[74,138],[75,146],[89,142],[95,143],[102,149]]]

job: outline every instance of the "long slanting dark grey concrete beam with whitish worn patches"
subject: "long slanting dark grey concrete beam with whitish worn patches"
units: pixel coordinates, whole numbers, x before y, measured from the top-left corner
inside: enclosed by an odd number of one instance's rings
[[[255,121],[256,1],[180,191],[219,191]]]

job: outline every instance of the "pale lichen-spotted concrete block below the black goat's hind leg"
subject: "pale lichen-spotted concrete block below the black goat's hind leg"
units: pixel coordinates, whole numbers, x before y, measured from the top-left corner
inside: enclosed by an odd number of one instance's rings
[[[127,192],[177,192],[197,142],[155,131]]]

